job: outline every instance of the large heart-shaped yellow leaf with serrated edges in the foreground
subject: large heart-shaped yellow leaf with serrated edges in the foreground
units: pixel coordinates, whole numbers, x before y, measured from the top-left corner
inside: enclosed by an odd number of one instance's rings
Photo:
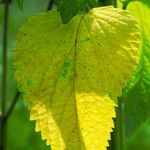
[[[141,34],[121,9],[94,8],[62,24],[55,10],[17,36],[14,78],[36,131],[53,150],[105,150],[117,96],[139,61]]]

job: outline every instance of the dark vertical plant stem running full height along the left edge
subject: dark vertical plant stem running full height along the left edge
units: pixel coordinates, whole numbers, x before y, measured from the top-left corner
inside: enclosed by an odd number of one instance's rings
[[[7,125],[5,119],[7,99],[7,31],[8,31],[9,0],[4,1],[3,35],[2,35],[2,112],[0,117],[0,149],[6,149]]]

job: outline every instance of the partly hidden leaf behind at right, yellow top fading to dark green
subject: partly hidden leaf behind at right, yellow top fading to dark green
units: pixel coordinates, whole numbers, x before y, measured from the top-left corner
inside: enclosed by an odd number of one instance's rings
[[[130,137],[150,115],[150,8],[137,1],[129,3],[128,10],[138,20],[143,37],[143,53],[139,70],[134,74],[132,82],[124,93],[126,136]]]

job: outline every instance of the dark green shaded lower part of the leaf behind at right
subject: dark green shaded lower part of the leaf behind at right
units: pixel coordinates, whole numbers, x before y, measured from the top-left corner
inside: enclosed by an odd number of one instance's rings
[[[144,97],[146,95],[149,96],[150,93],[143,93],[144,91],[147,92],[149,90],[146,90],[141,86],[141,81],[139,81],[124,98],[126,100],[125,127],[127,137],[130,137],[141,125],[141,123],[147,119],[147,116],[149,116],[150,102],[144,101]]]

